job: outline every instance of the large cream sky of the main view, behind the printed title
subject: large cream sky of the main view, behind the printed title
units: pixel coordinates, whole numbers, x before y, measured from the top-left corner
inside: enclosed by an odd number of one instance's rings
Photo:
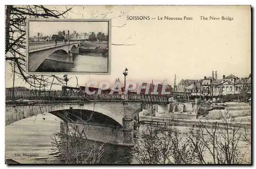
[[[66,9],[64,6],[55,8]],[[85,19],[104,16],[112,19],[111,43],[119,44],[110,48],[111,75],[68,75],[71,78],[69,86],[76,86],[75,76],[80,86],[90,80],[114,82],[118,77],[123,83],[125,68],[129,69],[127,80],[151,82],[153,79],[155,82],[166,79],[170,85],[174,85],[175,74],[178,83],[181,79],[211,76],[211,71],[217,71],[218,77],[230,74],[245,77],[251,73],[249,6],[74,6],[65,17]],[[187,16],[193,20],[127,20],[127,16]],[[233,20],[200,20],[200,16],[229,16]],[[83,27],[72,26],[77,32]],[[67,24],[49,24],[31,30],[37,29],[34,33],[42,31],[44,34],[70,28]],[[7,66],[6,79],[9,80],[6,87],[12,87],[11,77],[11,69]],[[17,78],[15,86],[23,86],[22,81]]]

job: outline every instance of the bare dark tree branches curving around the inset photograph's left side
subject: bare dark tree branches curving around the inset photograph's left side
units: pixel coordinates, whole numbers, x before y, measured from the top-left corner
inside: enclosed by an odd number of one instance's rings
[[[51,86],[52,79],[56,85],[62,85],[63,79],[53,75],[27,75],[26,74],[26,19],[27,18],[60,18],[71,11],[50,10],[42,5],[5,6],[5,60],[11,65],[12,71],[19,78],[24,79],[31,87],[41,88]]]

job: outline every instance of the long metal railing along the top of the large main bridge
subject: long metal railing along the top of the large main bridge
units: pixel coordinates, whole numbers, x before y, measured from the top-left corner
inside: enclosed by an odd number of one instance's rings
[[[87,100],[87,101],[121,101],[124,100],[122,94],[114,93],[109,94],[101,92],[98,94],[87,94],[85,91],[48,91],[48,90],[28,90],[28,89],[6,89],[6,100]],[[166,96],[161,95],[137,95],[129,93],[127,95],[127,101],[139,101],[139,102],[168,102]]]

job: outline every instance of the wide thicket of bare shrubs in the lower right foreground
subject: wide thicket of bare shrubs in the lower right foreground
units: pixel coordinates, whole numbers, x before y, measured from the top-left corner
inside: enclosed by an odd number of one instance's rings
[[[221,112],[220,112],[221,113]],[[147,126],[135,142],[134,157],[140,164],[241,164],[244,148],[251,146],[251,134],[242,135],[241,122],[228,112],[221,114],[221,124],[199,122],[189,131],[180,131],[175,119],[165,124]],[[244,140],[243,140],[244,139]],[[247,145],[241,147],[242,142]],[[206,152],[208,155],[206,156]]]

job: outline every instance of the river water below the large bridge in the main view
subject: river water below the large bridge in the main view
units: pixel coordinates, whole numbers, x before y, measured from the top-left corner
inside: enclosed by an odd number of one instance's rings
[[[139,130],[145,130],[140,126]],[[187,127],[179,126],[181,132]],[[52,139],[54,134],[60,131],[60,119],[49,113],[37,115],[20,120],[5,127],[6,159],[13,159],[20,163],[51,163],[56,157],[50,155],[52,150]],[[101,163],[105,164],[136,164],[133,159],[132,150],[129,147],[106,144]],[[23,156],[24,153],[36,154],[36,157]],[[208,154],[208,153],[206,153]],[[19,156],[20,155],[20,156]],[[248,158],[248,157],[247,157]],[[249,157],[250,158],[250,157]],[[207,161],[211,157],[205,156]]]

